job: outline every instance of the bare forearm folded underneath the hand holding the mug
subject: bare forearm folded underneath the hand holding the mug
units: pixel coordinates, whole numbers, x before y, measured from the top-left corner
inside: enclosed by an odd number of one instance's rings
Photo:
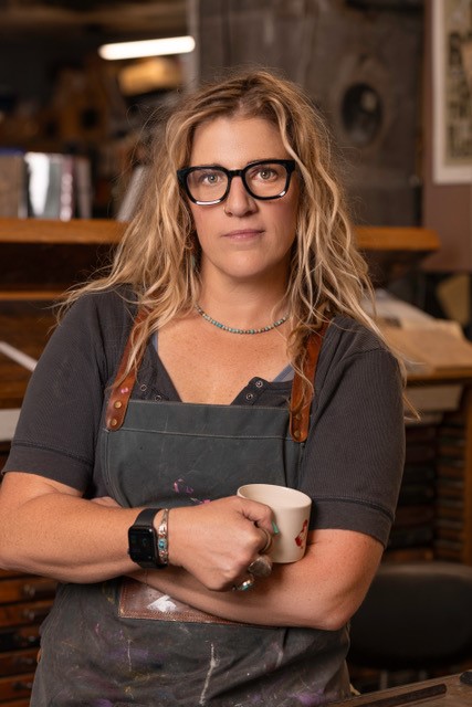
[[[170,541],[174,542],[172,535]],[[302,560],[274,564],[272,574],[256,579],[253,589],[247,592],[211,591],[178,567],[138,572],[134,577],[223,619],[333,631],[343,626],[360,605],[380,561],[382,546],[350,530],[316,530],[308,542]],[[171,548],[172,545],[170,552]],[[174,561],[185,564],[182,559]],[[240,579],[243,577],[244,573]]]

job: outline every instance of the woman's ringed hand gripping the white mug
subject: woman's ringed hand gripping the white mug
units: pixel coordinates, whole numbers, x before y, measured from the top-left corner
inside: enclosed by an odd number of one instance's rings
[[[272,510],[230,496],[169,514],[169,561],[207,589],[225,591],[248,578],[248,567],[272,537]]]

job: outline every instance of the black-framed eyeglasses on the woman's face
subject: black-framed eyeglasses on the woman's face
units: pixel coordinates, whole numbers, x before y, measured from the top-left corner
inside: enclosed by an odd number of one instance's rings
[[[243,169],[225,169],[221,165],[186,167],[177,170],[177,178],[190,201],[209,207],[224,201],[233,177],[241,177],[254,199],[281,199],[289,191],[294,170],[293,159],[262,159]]]

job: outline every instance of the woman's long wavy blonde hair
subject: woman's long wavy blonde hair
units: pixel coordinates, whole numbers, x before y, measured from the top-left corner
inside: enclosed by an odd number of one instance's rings
[[[196,128],[221,116],[269,120],[297,165],[301,196],[285,295],[294,367],[300,369],[307,334],[335,314],[349,315],[378,333],[361,307],[371,285],[335,175],[327,127],[300,87],[260,68],[227,74],[182,97],[157,130],[137,213],[108,274],[74,291],[67,304],[85,292],[128,285],[148,312],[135,335],[132,365],[153,331],[192,310],[200,289],[199,246],[176,170],[189,165]]]

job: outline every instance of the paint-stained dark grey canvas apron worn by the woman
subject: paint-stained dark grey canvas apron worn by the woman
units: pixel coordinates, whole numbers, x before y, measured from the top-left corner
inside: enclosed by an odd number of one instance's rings
[[[303,444],[290,424],[306,436],[306,403],[290,420],[277,408],[129,400],[132,382],[108,401],[99,443],[120,505],[191,506],[249,482],[296,487]],[[133,580],[63,584],[31,706],[310,707],[348,696],[346,651],[344,630],[224,622]]]

